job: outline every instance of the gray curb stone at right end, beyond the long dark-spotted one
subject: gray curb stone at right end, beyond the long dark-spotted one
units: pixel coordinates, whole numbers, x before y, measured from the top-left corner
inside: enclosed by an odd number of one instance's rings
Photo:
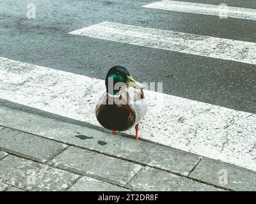
[[[256,191],[256,172],[212,159],[202,159],[189,177],[234,191]]]

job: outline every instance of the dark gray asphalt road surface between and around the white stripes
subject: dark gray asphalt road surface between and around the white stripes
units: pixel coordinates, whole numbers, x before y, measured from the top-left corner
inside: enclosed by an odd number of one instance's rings
[[[154,2],[1,0],[1,57],[99,79],[120,64],[140,82],[163,82],[166,94],[255,113],[255,64],[68,34],[107,21],[256,42],[256,20],[141,7]],[[253,0],[193,2],[256,9]],[[28,3],[35,19],[27,18]]]

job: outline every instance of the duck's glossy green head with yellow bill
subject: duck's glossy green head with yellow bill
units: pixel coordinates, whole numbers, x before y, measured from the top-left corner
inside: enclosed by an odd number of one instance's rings
[[[136,82],[129,71],[123,66],[113,66],[113,68],[109,69],[105,84],[107,92],[111,95],[116,95],[124,85],[129,85],[136,89],[143,89],[145,87],[140,82]]]

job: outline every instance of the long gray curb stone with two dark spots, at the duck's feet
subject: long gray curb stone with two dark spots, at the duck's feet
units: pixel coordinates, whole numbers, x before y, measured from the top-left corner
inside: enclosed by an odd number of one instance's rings
[[[160,145],[113,136],[95,129],[18,112],[9,108],[3,108],[3,111],[5,113],[3,115],[12,115],[11,118],[15,118],[14,124],[10,117],[4,117],[2,121],[0,119],[4,126],[182,175],[188,175],[200,160],[193,154]],[[106,142],[106,145],[100,145],[99,141]]]

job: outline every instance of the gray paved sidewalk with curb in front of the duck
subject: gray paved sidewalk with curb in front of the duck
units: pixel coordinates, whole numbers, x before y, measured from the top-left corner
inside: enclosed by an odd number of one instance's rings
[[[256,172],[0,106],[0,191],[256,191]]]

